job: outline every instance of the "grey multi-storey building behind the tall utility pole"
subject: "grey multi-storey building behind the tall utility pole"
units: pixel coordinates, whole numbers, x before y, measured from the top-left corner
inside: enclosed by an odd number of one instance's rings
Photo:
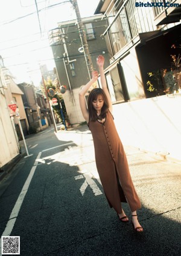
[[[105,67],[109,65],[109,54],[103,36],[107,22],[102,18],[103,15],[96,15],[82,19],[94,68],[97,68],[96,58],[99,54],[104,54]],[[81,85],[89,81],[90,72],[84,56],[77,20],[60,22],[58,28],[49,31],[49,40],[60,86],[66,86],[63,100],[69,121],[72,125],[84,122],[78,103],[78,91]]]

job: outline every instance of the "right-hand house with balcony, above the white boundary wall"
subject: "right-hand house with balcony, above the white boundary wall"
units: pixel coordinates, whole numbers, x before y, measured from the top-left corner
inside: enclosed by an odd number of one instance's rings
[[[181,3],[180,0],[171,2],[178,5]],[[108,22],[104,37],[109,51],[110,65],[105,72],[108,76],[108,87],[110,91],[115,92],[113,102],[127,102],[153,97],[158,93],[165,94],[167,84],[163,81],[162,70],[170,70],[172,61],[170,55],[179,53],[179,50],[171,46],[179,44],[181,25],[176,10],[180,10],[180,7],[174,10],[173,7],[168,7],[167,12],[170,14],[165,18],[164,8],[151,7],[151,4],[145,7],[141,2],[137,4],[138,7],[133,0],[104,0],[100,1],[95,11],[95,14],[102,13]],[[170,24],[176,21],[177,23]],[[153,71],[159,72],[161,88],[158,92],[159,88],[156,85],[157,91],[150,93],[147,85],[148,73]],[[119,81],[118,91],[115,90],[117,81]]]

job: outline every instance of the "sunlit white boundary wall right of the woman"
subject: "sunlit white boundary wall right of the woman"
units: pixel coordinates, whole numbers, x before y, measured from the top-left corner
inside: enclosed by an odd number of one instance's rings
[[[181,160],[181,93],[113,105],[124,145]]]

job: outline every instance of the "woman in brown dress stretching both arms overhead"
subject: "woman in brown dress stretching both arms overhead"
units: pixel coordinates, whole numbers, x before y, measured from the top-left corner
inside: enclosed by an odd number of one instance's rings
[[[142,232],[143,228],[139,225],[136,214],[136,210],[141,208],[141,203],[130,176],[124,148],[113,122],[112,102],[104,76],[103,56],[98,56],[97,65],[100,71],[102,89],[95,88],[91,90],[86,105],[84,96],[90,86],[98,79],[98,72],[93,71],[92,79],[81,88],[79,93],[81,112],[92,133],[95,162],[110,207],[115,209],[121,222],[129,222],[129,218],[122,209],[121,202],[129,203],[132,211],[133,229]]]

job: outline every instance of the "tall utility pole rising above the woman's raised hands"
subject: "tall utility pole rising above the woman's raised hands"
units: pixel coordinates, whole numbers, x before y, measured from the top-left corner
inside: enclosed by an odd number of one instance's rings
[[[87,44],[87,37],[86,37],[86,32],[84,30],[83,27],[83,22],[81,21],[81,16],[80,16],[80,11],[78,8],[78,4],[77,4],[77,0],[70,0],[70,2],[72,3],[74,9],[75,9],[75,13],[77,16],[77,25],[78,25],[78,31],[80,34],[80,39],[81,39],[81,45],[83,46],[83,50],[84,50],[84,57],[86,59],[86,65],[87,65],[87,70],[89,73],[89,79],[91,79],[92,77],[92,71],[94,70],[94,67],[92,65],[92,59],[89,53],[89,47]]]

